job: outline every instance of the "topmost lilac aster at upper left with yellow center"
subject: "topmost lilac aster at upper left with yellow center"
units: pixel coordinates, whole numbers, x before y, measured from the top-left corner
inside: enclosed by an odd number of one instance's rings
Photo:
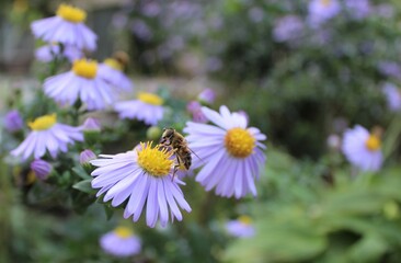
[[[31,28],[35,37],[47,43],[62,43],[90,52],[96,48],[98,36],[83,24],[85,11],[60,4],[56,15],[32,22]]]

